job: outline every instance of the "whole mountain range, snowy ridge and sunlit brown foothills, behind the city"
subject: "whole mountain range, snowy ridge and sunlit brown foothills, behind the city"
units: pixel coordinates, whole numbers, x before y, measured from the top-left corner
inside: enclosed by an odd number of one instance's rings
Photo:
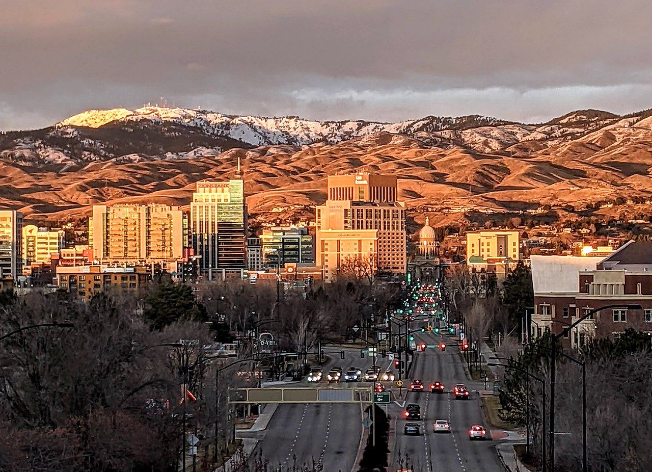
[[[0,205],[36,220],[80,217],[99,202],[184,206],[194,182],[233,176],[237,157],[250,212],[261,219],[309,217],[325,200],[328,174],[369,170],[398,175],[400,197],[444,224],[451,208],[647,200],[652,111],[579,110],[527,124],[479,115],[382,123],[89,110],[0,133]]]

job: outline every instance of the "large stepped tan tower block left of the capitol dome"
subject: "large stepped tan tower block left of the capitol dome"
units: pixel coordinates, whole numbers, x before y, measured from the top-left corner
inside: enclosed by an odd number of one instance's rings
[[[333,281],[358,261],[378,274],[406,273],[406,206],[396,176],[329,176],[329,199],[316,208],[316,264]]]

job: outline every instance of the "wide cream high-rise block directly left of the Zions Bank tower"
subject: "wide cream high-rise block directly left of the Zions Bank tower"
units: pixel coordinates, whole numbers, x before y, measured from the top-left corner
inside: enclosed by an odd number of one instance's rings
[[[179,207],[168,205],[94,205],[89,219],[93,257],[108,263],[167,266],[183,259],[188,223]]]

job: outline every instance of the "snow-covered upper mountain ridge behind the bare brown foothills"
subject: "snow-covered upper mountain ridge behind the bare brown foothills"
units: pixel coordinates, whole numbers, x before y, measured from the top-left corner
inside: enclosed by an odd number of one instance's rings
[[[426,148],[529,153],[578,138],[619,119],[608,112],[580,110],[539,125],[480,115],[426,116],[384,123],[237,116],[160,106],[113,108],[87,110],[45,129],[0,133],[0,159],[23,166],[74,166],[110,159],[184,159],[233,148],[337,144],[379,133],[407,136]]]

